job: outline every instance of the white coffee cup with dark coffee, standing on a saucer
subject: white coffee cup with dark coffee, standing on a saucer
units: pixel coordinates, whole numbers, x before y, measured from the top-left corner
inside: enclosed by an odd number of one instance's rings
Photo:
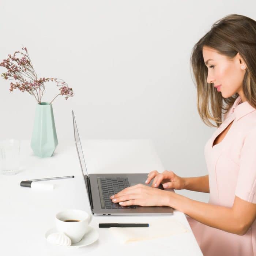
[[[55,223],[58,232],[65,233],[72,243],[79,242],[89,231],[92,215],[81,210],[65,210],[56,214]],[[67,222],[75,220],[76,222]]]

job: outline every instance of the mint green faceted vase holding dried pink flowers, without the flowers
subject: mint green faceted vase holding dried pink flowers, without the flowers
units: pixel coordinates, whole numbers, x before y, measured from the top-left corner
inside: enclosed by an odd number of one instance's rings
[[[41,102],[35,109],[31,148],[38,157],[51,157],[58,145],[52,104]]]

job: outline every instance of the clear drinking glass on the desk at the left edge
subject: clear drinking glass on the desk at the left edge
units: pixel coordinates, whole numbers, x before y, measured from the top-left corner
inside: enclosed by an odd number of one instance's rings
[[[20,161],[20,140],[8,139],[0,141],[0,170],[2,174],[18,173]]]

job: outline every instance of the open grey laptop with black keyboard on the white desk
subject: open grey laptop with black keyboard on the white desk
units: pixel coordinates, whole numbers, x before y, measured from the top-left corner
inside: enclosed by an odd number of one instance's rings
[[[124,188],[142,183],[145,184],[147,173],[98,173],[88,174],[82,145],[76,125],[74,111],[73,125],[75,145],[78,153],[78,159],[81,166],[84,182],[86,185],[87,196],[90,202],[91,212],[94,215],[172,215],[173,208],[167,206],[121,206],[113,203],[110,196],[120,192]],[[151,186],[150,184],[145,184]],[[162,184],[158,187],[163,189]]]

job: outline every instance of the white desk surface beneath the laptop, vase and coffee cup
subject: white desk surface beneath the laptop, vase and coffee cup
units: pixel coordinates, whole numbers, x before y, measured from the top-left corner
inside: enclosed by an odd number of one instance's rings
[[[84,140],[84,158],[89,173],[148,173],[163,171],[151,140]],[[91,226],[99,232],[94,244],[81,248],[64,248],[48,244],[45,232],[54,227],[54,216],[67,208],[90,212],[86,189],[74,142],[61,144],[50,158],[33,155],[30,141],[21,142],[21,170],[14,176],[0,175],[0,255],[202,255],[193,236],[188,233],[167,238],[119,244],[101,222],[150,222],[152,218],[176,218],[189,229],[185,215],[172,216],[94,216]],[[74,175],[75,178],[48,181],[53,191],[35,191],[20,187],[20,181]],[[191,229],[190,229],[191,230]]]

